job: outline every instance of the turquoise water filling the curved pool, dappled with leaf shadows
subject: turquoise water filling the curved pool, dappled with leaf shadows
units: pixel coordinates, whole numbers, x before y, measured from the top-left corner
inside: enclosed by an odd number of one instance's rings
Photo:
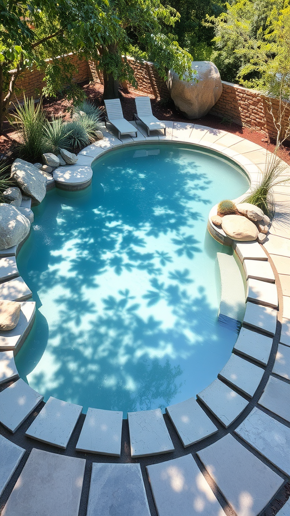
[[[18,256],[37,301],[15,362],[44,395],[88,407],[164,408],[212,382],[236,330],[217,322],[213,204],[248,188],[238,168],[181,144],[115,150],[92,185],[34,208]]]

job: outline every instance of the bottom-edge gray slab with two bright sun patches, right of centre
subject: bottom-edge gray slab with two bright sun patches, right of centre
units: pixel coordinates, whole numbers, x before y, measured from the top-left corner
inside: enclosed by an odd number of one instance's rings
[[[224,516],[192,455],[146,469],[158,516]]]

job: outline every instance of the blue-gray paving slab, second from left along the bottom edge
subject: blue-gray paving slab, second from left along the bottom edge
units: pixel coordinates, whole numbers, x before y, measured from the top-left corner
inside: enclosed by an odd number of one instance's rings
[[[93,463],[87,516],[150,516],[140,464]]]

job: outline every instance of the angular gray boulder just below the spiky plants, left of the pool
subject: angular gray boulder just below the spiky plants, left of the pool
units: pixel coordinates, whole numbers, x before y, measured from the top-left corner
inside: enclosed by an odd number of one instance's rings
[[[31,163],[24,159],[15,159],[11,167],[11,178],[18,183],[20,188],[41,202],[46,193],[46,180],[41,172]]]

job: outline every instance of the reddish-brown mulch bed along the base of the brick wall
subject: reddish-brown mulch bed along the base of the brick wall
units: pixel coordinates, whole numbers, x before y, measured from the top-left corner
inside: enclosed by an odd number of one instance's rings
[[[86,91],[87,98],[93,101],[96,105],[103,107],[103,87],[101,84],[84,84],[83,88]],[[127,120],[133,120],[135,112],[134,98],[138,95],[143,95],[142,91],[130,88],[128,90],[122,90],[121,92],[121,103],[123,108],[124,117]],[[156,100],[152,96],[152,111],[153,114],[160,120],[174,120],[176,122],[188,122],[180,112],[178,112],[172,101]],[[62,116],[63,119],[68,120],[70,113],[71,103],[67,100],[44,100],[43,107],[48,117],[54,115],[55,117]],[[236,134],[247,140],[261,145],[269,151],[273,151],[275,148],[275,141],[270,139],[266,133],[255,131],[249,127],[241,127],[234,123],[224,123],[220,118],[214,117],[213,115],[206,115],[205,117],[197,120],[192,120],[192,123],[200,125],[206,125],[215,129],[228,131],[229,133]],[[17,145],[17,133],[11,128],[8,122],[4,122],[3,133],[0,135],[0,157],[12,156],[13,148]],[[279,151],[279,156],[290,165],[290,142],[287,142]]]

